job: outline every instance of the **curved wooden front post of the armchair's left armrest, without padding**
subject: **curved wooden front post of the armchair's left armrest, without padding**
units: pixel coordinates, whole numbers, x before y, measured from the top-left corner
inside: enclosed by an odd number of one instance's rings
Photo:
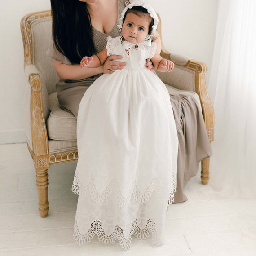
[[[31,135],[35,157],[48,155],[48,135],[44,120],[42,84],[37,73],[29,75],[31,85]]]

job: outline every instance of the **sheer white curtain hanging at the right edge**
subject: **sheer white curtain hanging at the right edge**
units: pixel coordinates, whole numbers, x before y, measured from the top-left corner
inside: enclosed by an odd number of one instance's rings
[[[209,183],[224,196],[256,196],[256,0],[219,0],[209,81],[215,141]]]

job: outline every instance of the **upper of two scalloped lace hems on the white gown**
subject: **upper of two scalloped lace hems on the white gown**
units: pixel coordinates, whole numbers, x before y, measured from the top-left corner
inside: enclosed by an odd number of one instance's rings
[[[176,192],[176,177],[173,177],[173,183],[172,183],[172,191],[170,191],[170,196],[168,199],[168,205],[172,204],[174,200],[174,192]],[[93,175],[91,176],[91,181],[89,184],[84,187],[81,185],[78,177],[78,172],[75,172],[75,177],[72,185],[72,191],[75,194],[81,195],[82,197],[90,196],[91,199],[95,203],[102,204],[106,199],[110,197],[110,194],[116,197],[117,203],[120,208],[124,209],[128,203],[131,202],[131,198],[133,198],[139,202],[139,203],[146,203],[149,199],[153,191],[155,191],[158,195],[159,200],[165,200],[166,196],[163,193],[163,190],[161,189],[161,183],[158,178],[154,178],[150,181],[149,185],[147,186],[145,192],[142,194],[134,182],[127,197],[124,197],[121,193],[119,183],[116,179],[113,179],[110,181],[109,185],[107,185],[106,189],[99,193],[97,191],[97,188],[94,183]]]

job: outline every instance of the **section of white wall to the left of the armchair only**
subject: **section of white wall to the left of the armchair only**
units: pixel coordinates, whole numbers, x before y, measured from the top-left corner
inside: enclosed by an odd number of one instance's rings
[[[23,128],[23,44],[21,18],[50,9],[50,0],[1,1],[0,8],[0,143],[26,141]]]

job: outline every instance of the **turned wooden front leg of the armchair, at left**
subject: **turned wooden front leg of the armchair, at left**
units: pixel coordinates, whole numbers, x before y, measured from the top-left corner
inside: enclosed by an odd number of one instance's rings
[[[39,212],[41,217],[46,217],[49,211],[48,203],[48,173],[47,170],[36,171],[36,185],[39,199]]]

